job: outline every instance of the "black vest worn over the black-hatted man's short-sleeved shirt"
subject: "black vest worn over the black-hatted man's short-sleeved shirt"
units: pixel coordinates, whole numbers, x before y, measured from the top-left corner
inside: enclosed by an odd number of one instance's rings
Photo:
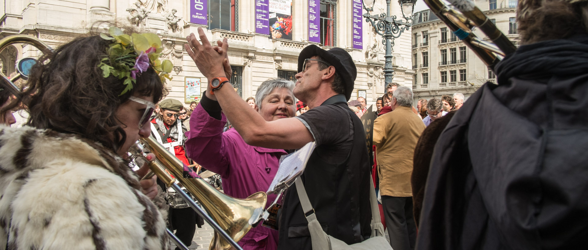
[[[323,230],[347,244],[355,244],[371,235],[370,165],[365,133],[358,116],[347,106],[345,97],[331,97],[322,105],[337,105],[348,112],[348,116],[342,119],[348,121],[351,117],[353,145],[347,159],[340,164],[329,163],[320,157],[329,145],[316,147],[302,174],[302,183]],[[312,249],[308,221],[295,185],[285,194],[278,249]]]

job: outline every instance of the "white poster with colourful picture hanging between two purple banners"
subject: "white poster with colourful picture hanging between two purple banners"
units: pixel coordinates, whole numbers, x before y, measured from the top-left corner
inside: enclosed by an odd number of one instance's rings
[[[268,9],[272,39],[292,40],[292,0],[269,0]]]

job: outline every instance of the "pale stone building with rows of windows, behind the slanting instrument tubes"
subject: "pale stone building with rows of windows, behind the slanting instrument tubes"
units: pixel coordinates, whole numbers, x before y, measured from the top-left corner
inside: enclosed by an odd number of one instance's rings
[[[476,0],[475,3],[518,45],[515,19],[518,0]],[[488,39],[480,31],[475,33]],[[422,98],[428,100],[453,93],[463,93],[467,98],[487,81],[496,80],[482,60],[429,9],[413,15],[412,53],[415,103]]]

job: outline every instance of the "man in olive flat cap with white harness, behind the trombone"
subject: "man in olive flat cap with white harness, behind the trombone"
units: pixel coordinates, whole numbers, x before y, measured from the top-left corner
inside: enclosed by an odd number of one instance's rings
[[[187,139],[185,134],[188,130],[178,119],[179,112],[182,110],[182,102],[176,99],[162,100],[159,103],[159,113],[155,119],[151,120],[151,134],[163,147],[175,154],[183,164],[189,165],[184,148],[184,142]],[[162,186],[162,189],[165,190],[165,185]],[[176,230],[175,234],[183,244],[191,245],[196,231],[196,222],[201,221],[196,212],[191,207],[169,207],[168,220],[172,230]]]

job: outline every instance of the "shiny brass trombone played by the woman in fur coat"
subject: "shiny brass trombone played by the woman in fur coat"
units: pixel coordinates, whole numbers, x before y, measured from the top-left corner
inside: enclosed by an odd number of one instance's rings
[[[28,35],[11,35],[1,39],[0,52],[12,43],[27,43],[35,46],[44,53],[54,53],[54,50],[46,45],[46,43]],[[30,58],[30,60],[38,63],[36,59]],[[13,76],[12,79],[9,79],[0,72],[2,79],[6,82],[10,91],[16,96],[19,96],[21,92],[13,81],[28,79],[28,70],[30,70],[30,67],[34,63],[29,63],[28,69],[18,68],[19,73]],[[156,160],[146,161],[146,151],[155,154]],[[215,235],[209,249],[227,250],[229,248],[235,248],[242,250],[236,242],[252,228],[253,224],[262,218],[263,208],[267,200],[267,194],[265,192],[256,192],[246,199],[237,199],[216,190],[216,188],[212,187],[205,180],[202,180],[202,178],[184,178],[183,163],[153,137],[141,138],[141,140],[129,148],[129,155],[148,162],[149,168],[151,168],[150,176],[154,173],[168,187],[174,188],[206,222],[215,228]],[[168,174],[168,171],[173,177]],[[192,197],[182,191],[178,184],[175,184],[175,179],[196,197],[206,212],[196,205]],[[176,246],[188,250],[169,229],[167,229],[167,232],[172,240],[175,241]]]

